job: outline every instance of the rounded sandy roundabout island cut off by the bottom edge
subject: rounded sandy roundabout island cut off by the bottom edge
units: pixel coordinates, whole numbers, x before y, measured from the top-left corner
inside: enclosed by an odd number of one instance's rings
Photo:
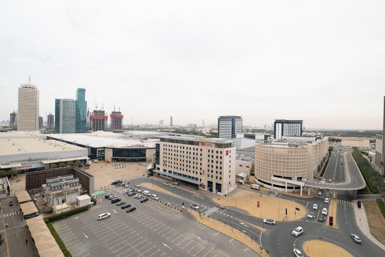
[[[338,245],[318,240],[306,241],[301,252],[311,257],[353,257],[353,255]]]

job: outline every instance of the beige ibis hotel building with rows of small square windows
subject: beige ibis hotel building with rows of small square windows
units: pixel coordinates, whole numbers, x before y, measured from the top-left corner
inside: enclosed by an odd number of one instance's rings
[[[234,141],[157,137],[154,172],[173,181],[225,195],[236,188]]]

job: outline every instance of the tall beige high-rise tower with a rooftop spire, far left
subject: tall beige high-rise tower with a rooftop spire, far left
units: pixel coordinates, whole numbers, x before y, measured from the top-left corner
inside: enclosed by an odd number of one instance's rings
[[[18,131],[39,130],[39,90],[31,84],[21,84],[18,90]]]

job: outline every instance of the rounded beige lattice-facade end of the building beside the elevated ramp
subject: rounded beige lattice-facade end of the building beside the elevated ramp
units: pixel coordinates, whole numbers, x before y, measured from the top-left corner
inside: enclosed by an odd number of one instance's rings
[[[307,179],[308,146],[286,140],[256,141],[254,165],[256,183],[269,189],[299,191],[301,180]]]

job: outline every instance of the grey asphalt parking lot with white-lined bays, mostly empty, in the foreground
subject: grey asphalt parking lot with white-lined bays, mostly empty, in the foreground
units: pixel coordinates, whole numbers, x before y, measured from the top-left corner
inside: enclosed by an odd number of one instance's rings
[[[137,210],[126,213],[98,195],[97,207],[54,223],[74,257],[219,257],[235,256],[239,250],[243,256],[255,256],[238,241],[198,224],[186,211],[180,214],[154,200],[140,203],[121,194],[121,189],[110,192]],[[98,220],[97,215],[103,212],[111,217]]]

